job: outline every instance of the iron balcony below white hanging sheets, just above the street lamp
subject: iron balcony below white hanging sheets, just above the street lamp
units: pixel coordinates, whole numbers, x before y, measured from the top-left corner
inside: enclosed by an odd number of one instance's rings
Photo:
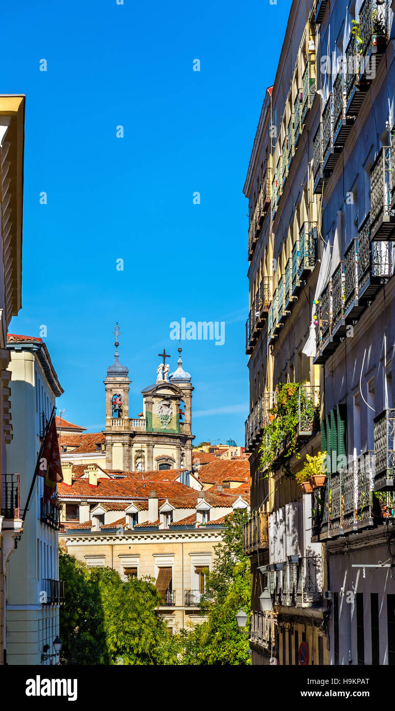
[[[323,602],[321,556],[283,562],[282,570],[269,572],[269,592],[274,604],[289,607],[320,606]]]

